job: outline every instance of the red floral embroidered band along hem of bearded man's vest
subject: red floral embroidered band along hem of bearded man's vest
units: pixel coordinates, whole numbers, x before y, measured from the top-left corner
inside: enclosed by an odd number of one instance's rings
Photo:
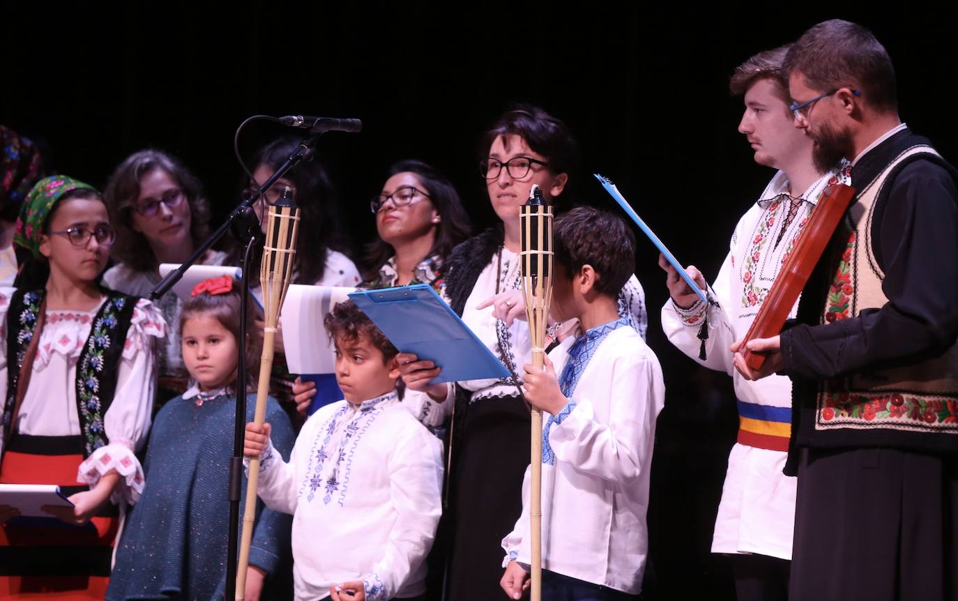
[[[958,399],[901,394],[865,395],[827,391],[819,401],[817,427],[869,427],[958,432]]]

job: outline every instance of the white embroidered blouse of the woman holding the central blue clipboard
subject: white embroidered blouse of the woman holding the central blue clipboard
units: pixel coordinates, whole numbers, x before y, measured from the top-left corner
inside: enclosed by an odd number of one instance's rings
[[[529,337],[529,324],[522,319],[513,320],[512,327],[492,316],[492,308],[477,309],[486,299],[496,293],[522,288],[518,255],[506,247],[501,248],[502,265],[497,256],[493,256],[489,265],[479,274],[475,286],[469,293],[466,307],[463,309],[463,322],[515,375],[522,384],[523,366],[532,362],[532,350]],[[444,299],[448,302],[448,298]],[[643,338],[646,335],[648,316],[646,315],[645,292],[638,279],[631,276],[619,293],[619,315],[628,320],[628,324]],[[490,380],[460,381],[459,384],[471,391],[471,402],[491,397],[516,396],[512,378]],[[447,399],[452,399],[453,386],[447,386]],[[452,403],[435,403],[425,393],[407,391],[403,403],[416,417],[427,426],[442,426],[452,411]]]

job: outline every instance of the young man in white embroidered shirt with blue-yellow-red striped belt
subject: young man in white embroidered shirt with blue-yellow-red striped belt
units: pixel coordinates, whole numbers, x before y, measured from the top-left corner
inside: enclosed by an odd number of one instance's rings
[[[787,599],[796,483],[782,474],[791,428],[791,382],[784,376],[746,381],[735,371],[729,347],[748,332],[826,186],[848,183],[847,173],[839,169],[824,175],[818,171],[812,141],[794,127],[781,75],[787,50],[748,58],[730,81],[732,92],[744,97],[739,131],[755,151],[755,162],[778,173],[736,226],[709,289],[714,304],[700,301],[673,266],[659,258],[672,296],[662,308],[665,334],[689,358],[724,371],[735,383],[739,436],[728,458],[712,552],[730,558],[739,601]],[[686,270],[699,288],[708,288],[695,266]]]

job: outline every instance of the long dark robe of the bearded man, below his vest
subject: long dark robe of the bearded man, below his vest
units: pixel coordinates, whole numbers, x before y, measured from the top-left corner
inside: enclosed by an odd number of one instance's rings
[[[802,451],[792,601],[951,600],[956,581],[954,456]]]

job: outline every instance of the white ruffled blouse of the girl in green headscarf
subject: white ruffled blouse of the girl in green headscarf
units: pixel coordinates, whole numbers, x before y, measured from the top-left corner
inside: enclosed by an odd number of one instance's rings
[[[7,398],[6,331],[12,292],[13,289],[0,290],[0,421],[4,412],[3,400]],[[46,312],[33,375],[13,425],[20,433],[80,435],[75,383],[77,364],[94,317],[105,300],[104,297],[100,305],[89,312]],[[111,497],[116,503],[135,503],[143,492],[143,468],[134,452],[147,441],[156,381],[156,353],[166,332],[166,323],[159,309],[146,299],[137,302],[126,332],[113,402],[103,415],[103,428],[109,444],[94,451],[80,464],[77,479],[91,487],[111,470],[123,477]]]

